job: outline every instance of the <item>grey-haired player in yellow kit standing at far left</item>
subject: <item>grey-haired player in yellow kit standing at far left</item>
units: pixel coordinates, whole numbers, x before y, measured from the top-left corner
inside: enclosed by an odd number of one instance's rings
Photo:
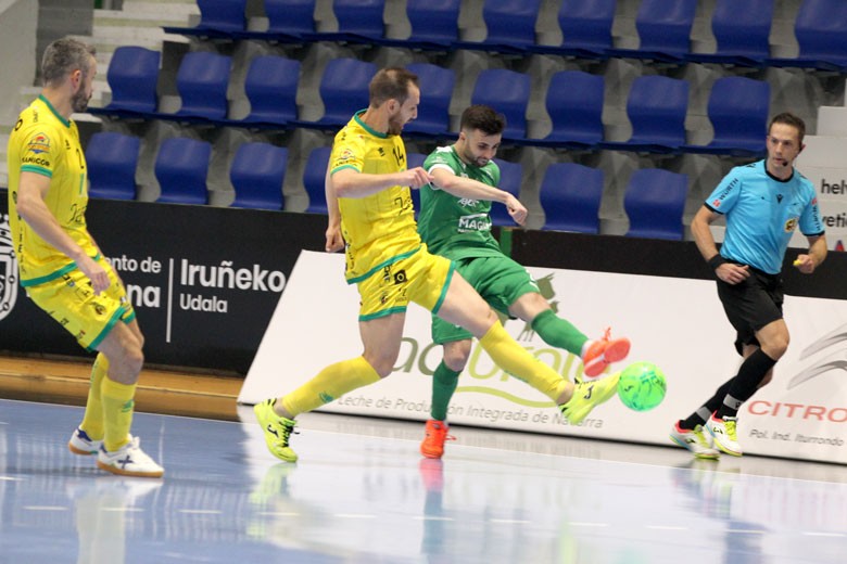
[[[143,336],[123,283],[88,232],[86,161],[71,119],[85,112],[94,49],[60,39],[45,50],[41,94],[9,138],[9,216],[21,285],[80,346],[98,351],[80,425],[68,448],[113,474],[164,470],[129,434]]]

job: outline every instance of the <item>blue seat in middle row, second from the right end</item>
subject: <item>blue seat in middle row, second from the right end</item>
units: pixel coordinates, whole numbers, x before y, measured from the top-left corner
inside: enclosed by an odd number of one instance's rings
[[[609,150],[677,153],[685,144],[688,81],[667,76],[642,75],[632,82],[627,115],[632,137],[623,142],[605,142]]]

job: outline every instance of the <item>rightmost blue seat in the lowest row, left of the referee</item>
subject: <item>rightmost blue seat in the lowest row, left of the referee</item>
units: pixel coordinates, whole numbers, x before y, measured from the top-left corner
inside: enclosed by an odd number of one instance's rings
[[[623,194],[623,209],[630,219],[627,236],[681,241],[687,194],[687,175],[659,168],[635,170]]]

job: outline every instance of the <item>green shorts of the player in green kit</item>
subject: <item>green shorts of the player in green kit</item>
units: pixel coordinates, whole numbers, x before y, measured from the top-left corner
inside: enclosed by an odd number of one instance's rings
[[[540,293],[527,269],[507,256],[470,257],[454,260],[456,270],[497,311],[508,316],[509,306],[523,294]],[[438,316],[432,316],[432,342],[443,345],[473,335]]]

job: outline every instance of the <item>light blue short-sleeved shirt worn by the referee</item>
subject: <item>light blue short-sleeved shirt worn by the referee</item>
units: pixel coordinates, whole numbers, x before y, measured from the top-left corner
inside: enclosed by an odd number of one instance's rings
[[[798,225],[806,236],[824,233],[812,183],[797,169],[780,180],[767,171],[764,161],[733,168],[705,204],[726,216],[721,256],[769,274],[782,271]]]

